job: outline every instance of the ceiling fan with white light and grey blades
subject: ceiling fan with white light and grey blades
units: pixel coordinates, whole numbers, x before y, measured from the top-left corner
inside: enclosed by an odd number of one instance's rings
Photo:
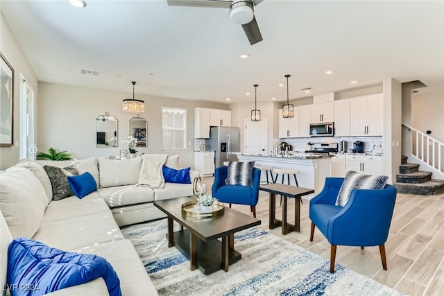
[[[262,41],[262,35],[255,19],[254,8],[264,0],[167,0],[170,6],[194,6],[230,8],[230,19],[242,25],[251,45]]]

